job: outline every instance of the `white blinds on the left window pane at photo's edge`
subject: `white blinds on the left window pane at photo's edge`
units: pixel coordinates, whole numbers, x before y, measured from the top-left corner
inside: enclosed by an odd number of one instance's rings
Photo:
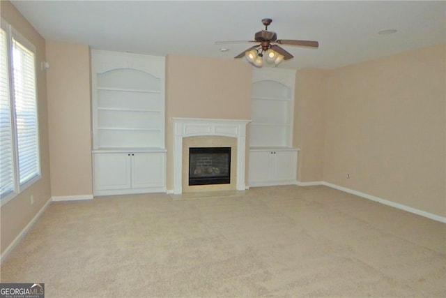
[[[0,29],[0,197],[14,191],[13,129],[11,125],[8,47],[6,31]]]

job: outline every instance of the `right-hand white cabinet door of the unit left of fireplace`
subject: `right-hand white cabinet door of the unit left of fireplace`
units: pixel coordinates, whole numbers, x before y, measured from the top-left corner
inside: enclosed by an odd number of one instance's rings
[[[132,188],[164,186],[164,154],[132,154]]]

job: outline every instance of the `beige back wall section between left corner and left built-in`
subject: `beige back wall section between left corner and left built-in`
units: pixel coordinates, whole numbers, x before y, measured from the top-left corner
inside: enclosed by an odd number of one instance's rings
[[[52,196],[92,195],[90,50],[47,43]]]

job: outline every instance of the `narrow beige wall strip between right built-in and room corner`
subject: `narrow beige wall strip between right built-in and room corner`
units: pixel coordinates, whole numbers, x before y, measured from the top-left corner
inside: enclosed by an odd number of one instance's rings
[[[298,154],[298,181],[322,181],[325,142],[327,70],[298,70],[295,78],[293,147]]]

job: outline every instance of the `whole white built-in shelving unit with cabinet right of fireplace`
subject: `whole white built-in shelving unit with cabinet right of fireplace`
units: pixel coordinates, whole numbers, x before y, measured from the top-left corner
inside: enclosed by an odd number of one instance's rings
[[[298,149],[293,148],[295,70],[253,68],[249,186],[293,184]]]

